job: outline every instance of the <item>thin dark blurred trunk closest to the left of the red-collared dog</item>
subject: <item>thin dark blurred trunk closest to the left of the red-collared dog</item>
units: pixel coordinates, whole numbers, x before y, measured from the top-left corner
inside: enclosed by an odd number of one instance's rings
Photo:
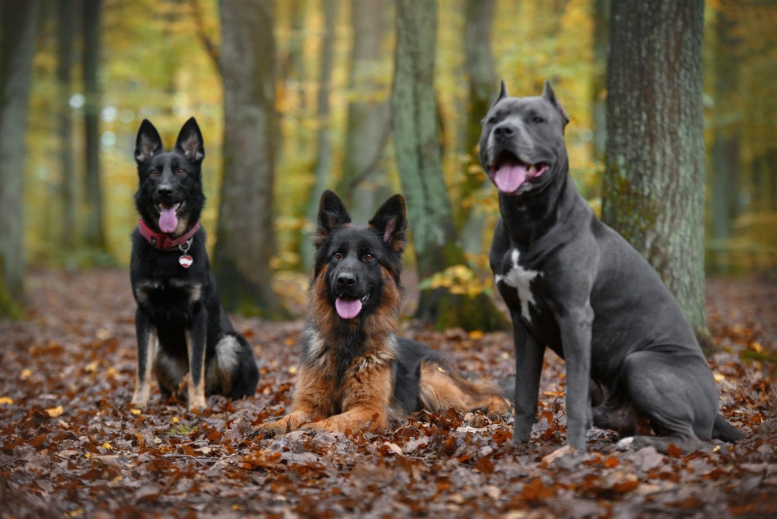
[[[103,191],[99,171],[100,94],[97,69],[100,54],[100,0],[84,0],[83,77],[86,91],[84,105],[86,149],[86,222],[85,241],[93,250],[105,250]]]

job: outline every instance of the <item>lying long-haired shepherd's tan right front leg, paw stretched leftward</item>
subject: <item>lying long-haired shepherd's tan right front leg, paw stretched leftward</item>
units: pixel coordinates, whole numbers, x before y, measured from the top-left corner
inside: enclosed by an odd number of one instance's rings
[[[393,394],[391,365],[378,355],[368,354],[354,361],[357,367],[343,383],[343,413],[305,427],[344,433],[370,423],[371,430],[385,429],[389,423],[389,403]]]

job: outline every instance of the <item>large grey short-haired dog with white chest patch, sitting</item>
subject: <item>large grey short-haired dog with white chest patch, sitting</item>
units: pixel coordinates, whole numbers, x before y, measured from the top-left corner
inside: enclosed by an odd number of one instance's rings
[[[524,98],[507,96],[502,82],[483,119],[480,162],[501,214],[489,259],[514,329],[513,442],[528,441],[535,423],[546,346],[566,361],[573,448],[585,449],[592,423],[664,452],[739,439],[718,413],[713,374],[677,301],[578,193],[568,122],[548,82],[542,96]],[[638,417],[660,436],[634,436]]]

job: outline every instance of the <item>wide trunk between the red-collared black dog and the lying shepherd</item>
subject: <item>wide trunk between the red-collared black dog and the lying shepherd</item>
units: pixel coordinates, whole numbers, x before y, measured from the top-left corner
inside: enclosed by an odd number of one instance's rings
[[[286,312],[270,258],[275,179],[275,38],[272,0],[221,0],[224,175],[214,271],[229,310],[268,318]]]

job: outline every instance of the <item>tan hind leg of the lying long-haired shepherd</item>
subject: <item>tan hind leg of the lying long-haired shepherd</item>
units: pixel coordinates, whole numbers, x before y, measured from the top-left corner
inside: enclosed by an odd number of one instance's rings
[[[436,362],[423,361],[419,380],[421,404],[430,411],[484,409],[490,415],[507,413],[510,404],[497,385],[469,381]]]

